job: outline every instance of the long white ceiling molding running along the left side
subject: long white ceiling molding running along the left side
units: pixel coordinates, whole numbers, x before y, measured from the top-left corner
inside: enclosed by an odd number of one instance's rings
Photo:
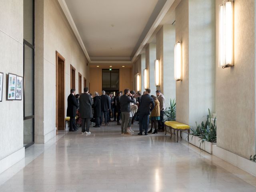
[[[63,10],[63,12],[64,12],[64,14],[65,14],[69,24],[70,24],[70,26],[71,26],[71,28],[72,28],[72,30],[74,32],[74,34],[76,35],[76,38],[77,38],[77,40],[78,40],[82,50],[84,51],[84,54],[85,54],[86,58],[88,59],[88,62],[90,63],[91,62],[90,56],[89,56],[89,54],[88,54],[88,52],[87,52],[87,50],[86,50],[86,48],[84,46],[82,38],[81,38],[77,28],[76,28],[76,24],[75,24],[75,22],[74,22],[74,20],[73,20],[73,18],[71,16],[69,10],[68,10],[68,6],[67,6],[65,0],[58,0],[58,2],[60,4],[60,7],[62,8],[62,10]]]

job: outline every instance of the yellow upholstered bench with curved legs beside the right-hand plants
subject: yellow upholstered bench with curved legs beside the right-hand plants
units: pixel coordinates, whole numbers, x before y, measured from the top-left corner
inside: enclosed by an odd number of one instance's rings
[[[169,128],[170,132],[167,130],[167,128]],[[170,133],[171,134],[171,138],[172,138],[172,129],[174,129],[174,134],[175,134],[175,130],[176,130],[176,134],[177,134],[177,142],[178,142],[178,133],[179,133],[179,130],[180,130],[180,138],[182,138],[182,131],[183,130],[188,130],[188,135],[189,135],[189,130],[190,130],[190,127],[186,124],[183,124],[183,123],[180,123],[180,122],[177,122],[177,121],[166,121],[164,122],[164,131],[165,131],[165,134],[166,132]],[[189,137],[188,137],[188,140],[189,140]]]

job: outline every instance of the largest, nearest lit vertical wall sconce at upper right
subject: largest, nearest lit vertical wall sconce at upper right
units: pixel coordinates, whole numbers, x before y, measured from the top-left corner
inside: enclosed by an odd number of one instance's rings
[[[233,66],[233,0],[219,6],[219,67]]]

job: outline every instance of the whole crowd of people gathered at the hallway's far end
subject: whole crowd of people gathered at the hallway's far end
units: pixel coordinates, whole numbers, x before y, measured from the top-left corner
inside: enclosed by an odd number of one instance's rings
[[[156,96],[150,96],[150,89],[146,89],[143,94],[125,89],[124,93],[119,91],[115,96],[112,93],[107,95],[104,90],[101,95],[98,92],[90,94],[88,88],[84,88],[84,93],[80,95],[75,94],[75,91],[71,89],[68,96],[69,131],[77,131],[80,125],[82,134],[90,134],[92,122],[95,123],[93,127],[100,127],[102,124],[108,126],[109,122],[117,122],[117,125],[121,126],[121,134],[131,135],[135,121],[139,122],[138,135],[143,135],[143,132],[147,135],[164,131],[165,98],[160,90],[156,90]]]

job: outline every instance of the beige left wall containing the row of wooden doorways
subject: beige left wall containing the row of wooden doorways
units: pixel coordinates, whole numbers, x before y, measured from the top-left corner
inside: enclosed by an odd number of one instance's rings
[[[36,108],[35,141],[45,143],[56,135],[56,51],[65,58],[65,100],[70,94],[70,64],[76,68],[76,90],[78,72],[83,78],[89,70],[88,61],[78,43],[57,0],[36,0]],[[40,30],[38,30],[40,29]],[[43,31],[42,31],[43,30]],[[37,49],[38,46],[38,49]],[[43,75],[42,75],[43,72]],[[39,103],[39,104],[37,104]],[[65,109],[67,108],[67,101]]]

